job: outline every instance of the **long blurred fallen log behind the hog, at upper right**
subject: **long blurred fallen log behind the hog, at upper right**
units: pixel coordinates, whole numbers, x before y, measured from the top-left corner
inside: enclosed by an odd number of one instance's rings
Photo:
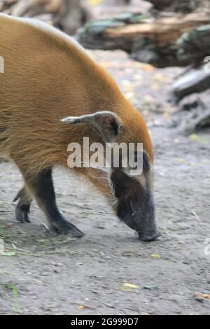
[[[186,32],[209,24],[210,13],[173,15],[169,18],[125,13],[112,20],[88,22],[78,30],[78,41],[86,48],[130,53],[133,59],[158,67],[186,66],[190,57],[177,56],[176,41]]]

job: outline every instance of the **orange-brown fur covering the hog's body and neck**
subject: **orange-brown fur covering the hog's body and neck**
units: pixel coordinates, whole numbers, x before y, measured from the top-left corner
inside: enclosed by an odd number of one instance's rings
[[[83,137],[99,141],[88,125],[60,123],[66,116],[95,111],[117,113],[124,128],[118,142],[142,142],[153,161],[143,118],[83,48],[33,20],[0,14],[0,31],[5,62],[0,74],[0,153],[9,155],[22,172],[35,175],[53,165],[67,166],[69,143],[82,143]]]

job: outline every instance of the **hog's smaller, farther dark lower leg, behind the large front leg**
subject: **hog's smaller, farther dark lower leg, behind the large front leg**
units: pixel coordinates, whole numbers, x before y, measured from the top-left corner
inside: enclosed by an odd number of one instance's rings
[[[13,202],[17,201],[18,199],[20,199],[20,201],[15,208],[15,216],[21,223],[30,223],[29,212],[33,197],[31,196],[31,193],[29,193],[27,186],[24,186],[22,190],[18,192],[18,195],[16,195]]]

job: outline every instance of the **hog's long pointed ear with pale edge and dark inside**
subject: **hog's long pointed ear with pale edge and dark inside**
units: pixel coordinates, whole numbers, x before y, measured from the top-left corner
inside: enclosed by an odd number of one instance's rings
[[[106,143],[111,143],[116,139],[122,126],[121,120],[116,113],[109,111],[95,112],[86,116],[69,116],[61,121],[62,123],[70,123],[72,125],[78,123],[92,125]]]

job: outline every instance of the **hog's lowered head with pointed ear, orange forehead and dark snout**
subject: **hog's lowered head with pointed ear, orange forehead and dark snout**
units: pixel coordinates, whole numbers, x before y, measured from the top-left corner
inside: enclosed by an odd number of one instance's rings
[[[109,182],[115,202],[113,209],[120,220],[135,230],[143,241],[153,241],[160,237],[155,216],[153,198],[153,149],[144,120],[136,110],[114,113],[101,111],[80,117],[67,117],[64,123],[91,125],[96,136],[106,144],[143,144],[141,154],[134,149],[136,160],[142,162],[142,170],[137,174],[134,168],[123,167],[122,153],[119,165],[113,162],[109,168]],[[132,174],[131,174],[132,172]]]

